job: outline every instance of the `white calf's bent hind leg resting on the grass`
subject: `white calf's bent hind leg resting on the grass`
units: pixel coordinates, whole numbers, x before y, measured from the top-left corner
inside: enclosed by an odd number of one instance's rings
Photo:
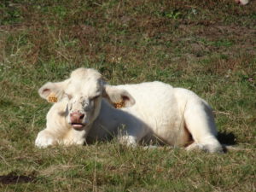
[[[212,109],[207,102],[197,101],[188,104],[184,112],[185,124],[195,143],[187,150],[201,149],[209,153],[223,153],[222,145],[217,139],[217,128]]]

